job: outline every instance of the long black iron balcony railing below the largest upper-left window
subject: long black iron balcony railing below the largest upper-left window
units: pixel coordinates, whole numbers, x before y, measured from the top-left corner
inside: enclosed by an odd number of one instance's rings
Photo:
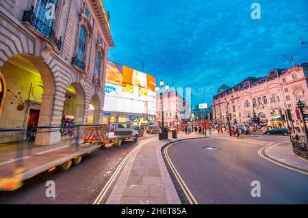
[[[55,32],[49,25],[46,23],[40,21],[36,16],[34,16],[34,6],[31,7],[31,10],[24,11],[23,12],[23,22],[29,23],[34,29],[38,30],[40,33],[42,33],[47,38],[51,39],[53,42],[55,42],[55,45],[57,46],[57,49],[61,50],[62,46],[62,38],[60,36],[60,39],[58,40],[55,36]]]

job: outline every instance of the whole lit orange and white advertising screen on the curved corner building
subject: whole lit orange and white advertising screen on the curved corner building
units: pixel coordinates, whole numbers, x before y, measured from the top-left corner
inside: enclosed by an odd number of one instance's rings
[[[155,115],[155,83],[149,74],[108,61],[105,111]]]

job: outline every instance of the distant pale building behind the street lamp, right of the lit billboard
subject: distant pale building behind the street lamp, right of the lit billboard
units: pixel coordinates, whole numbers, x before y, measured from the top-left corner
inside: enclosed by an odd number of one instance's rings
[[[179,94],[174,87],[163,93],[164,125],[172,126],[177,121],[190,119],[191,109],[189,102]],[[156,93],[156,121],[162,122],[162,94]]]

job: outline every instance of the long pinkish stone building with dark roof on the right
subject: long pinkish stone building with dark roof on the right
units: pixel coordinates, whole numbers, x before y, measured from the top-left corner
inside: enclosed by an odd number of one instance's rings
[[[251,122],[255,116],[268,126],[287,126],[285,111],[290,109],[293,125],[300,126],[296,103],[301,100],[308,105],[307,77],[308,64],[304,63],[270,70],[266,77],[248,77],[234,87],[222,85],[211,103],[214,122],[227,123],[229,112],[232,122]]]

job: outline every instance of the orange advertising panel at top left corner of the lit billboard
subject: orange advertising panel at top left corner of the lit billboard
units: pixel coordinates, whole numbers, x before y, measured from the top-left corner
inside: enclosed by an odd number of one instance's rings
[[[107,61],[106,79],[107,83],[122,85],[123,82],[123,66],[114,62]]]

